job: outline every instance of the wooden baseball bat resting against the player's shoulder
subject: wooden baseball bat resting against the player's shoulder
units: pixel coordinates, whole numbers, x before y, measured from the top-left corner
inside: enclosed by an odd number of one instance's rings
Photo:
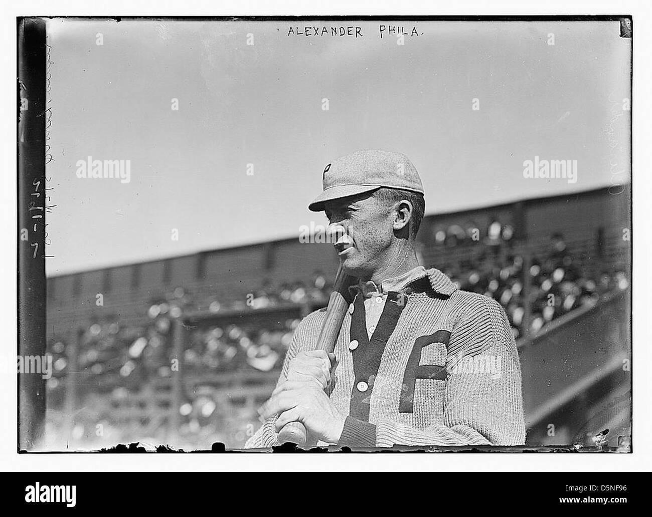
[[[357,279],[351,275],[347,275],[342,270],[342,264],[337,270],[335,276],[335,283],[333,285],[333,292],[329,298],[328,307],[326,309],[326,316],[319,332],[319,339],[317,341],[316,350],[325,350],[327,353],[332,353],[335,348],[335,342],[340,334],[342,328],[342,321],[349,308],[351,299],[349,296],[349,286],[353,285]],[[296,443],[299,447],[306,444],[307,433],[306,428],[301,422],[290,422],[283,426],[278,433],[278,441],[280,443]]]

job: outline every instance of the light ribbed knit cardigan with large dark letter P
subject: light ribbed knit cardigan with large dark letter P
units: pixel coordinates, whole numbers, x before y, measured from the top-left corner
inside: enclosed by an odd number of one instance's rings
[[[337,445],[524,443],[520,363],[499,303],[430,269],[387,294],[371,337],[364,313],[358,293],[334,348],[338,365],[327,393],[346,415]],[[301,321],[278,384],[293,357],[317,348],[324,317],[321,309]],[[275,419],[245,447],[279,445]]]

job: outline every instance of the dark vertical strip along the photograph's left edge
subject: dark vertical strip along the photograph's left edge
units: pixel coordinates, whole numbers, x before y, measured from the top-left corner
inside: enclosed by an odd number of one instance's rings
[[[25,367],[46,352],[46,57],[45,20],[18,20],[18,355]],[[44,432],[46,381],[40,371],[23,371],[18,449],[30,450]]]

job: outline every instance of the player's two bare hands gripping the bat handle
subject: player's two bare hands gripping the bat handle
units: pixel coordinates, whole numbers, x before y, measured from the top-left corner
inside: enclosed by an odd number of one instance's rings
[[[263,418],[279,414],[276,432],[289,422],[299,421],[312,438],[327,443],[340,440],[345,417],[324,393],[331,382],[334,359],[334,354],[312,350],[300,352],[290,361],[286,381],[274,389],[260,411]]]

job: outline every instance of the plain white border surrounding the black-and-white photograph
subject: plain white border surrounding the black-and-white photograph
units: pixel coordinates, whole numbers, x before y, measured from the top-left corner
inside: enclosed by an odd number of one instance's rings
[[[0,465],[18,471],[649,471],[652,463],[650,419],[652,332],[645,286],[652,286],[650,267],[649,203],[652,199],[649,171],[652,163],[650,135],[651,95],[649,56],[652,13],[649,1],[546,0],[537,5],[522,1],[486,3],[426,1],[112,1],[89,5],[87,1],[30,1],[3,3],[0,35],[3,52],[2,180],[0,214],[3,239],[0,271],[5,293],[0,296],[0,357],[10,360],[16,350],[16,16],[230,16],[230,15],[546,15],[631,14],[634,21],[634,431],[633,454],[17,454],[16,378],[0,376]],[[645,216],[648,217],[645,217]]]

